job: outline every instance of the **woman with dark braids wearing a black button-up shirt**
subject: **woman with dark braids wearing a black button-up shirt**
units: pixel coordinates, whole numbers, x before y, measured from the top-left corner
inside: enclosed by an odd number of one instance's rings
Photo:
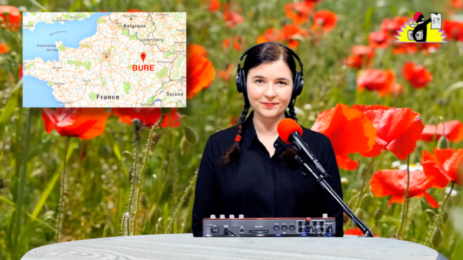
[[[202,236],[202,219],[210,215],[322,217],[324,213],[336,217],[335,236],[343,236],[342,208],[314,178],[303,177],[303,168],[294,159],[296,150],[277,133],[277,124],[285,117],[297,122],[294,103],[298,93],[294,93],[297,90],[293,85],[298,78],[291,50],[279,43],[261,43],[246,53],[242,68],[245,76],[242,82],[246,82],[242,87],[244,107],[239,122],[212,134],[200,161],[193,236]],[[300,84],[302,88],[303,81]],[[237,86],[240,91],[238,80]],[[244,120],[250,106],[253,111]],[[343,198],[329,138],[302,129],[305,143],[331,175],[327,182]]]

